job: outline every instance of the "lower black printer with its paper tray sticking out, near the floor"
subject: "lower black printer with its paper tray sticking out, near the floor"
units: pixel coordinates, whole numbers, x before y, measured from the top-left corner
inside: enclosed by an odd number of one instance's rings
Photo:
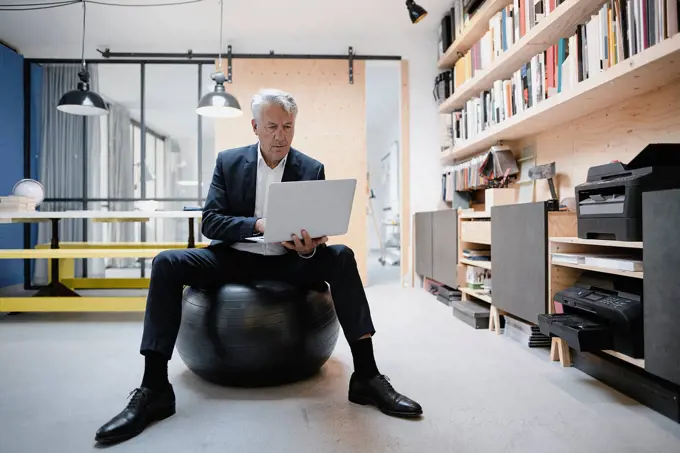
[[[580,352],[611,349],[644,358],[641,294],[641,279],[584,272],[555,295],[558,313],[538,315],[538,325]]]

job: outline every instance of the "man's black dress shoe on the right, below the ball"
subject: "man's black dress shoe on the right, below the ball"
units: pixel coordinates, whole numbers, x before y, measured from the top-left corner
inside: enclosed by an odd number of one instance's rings
[[[394,390],[387,376],[382,374],[365,379],[353,373],[349,380],[349,400],[376,406],[383,413],[396,417],[419,417],[423,414],[420,404]]]

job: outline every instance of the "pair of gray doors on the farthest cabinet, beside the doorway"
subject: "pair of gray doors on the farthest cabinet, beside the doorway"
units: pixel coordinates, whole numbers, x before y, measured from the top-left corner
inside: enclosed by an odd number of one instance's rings
[[[414,225],[416,274],[458,286],[458,211],[418,212]]]

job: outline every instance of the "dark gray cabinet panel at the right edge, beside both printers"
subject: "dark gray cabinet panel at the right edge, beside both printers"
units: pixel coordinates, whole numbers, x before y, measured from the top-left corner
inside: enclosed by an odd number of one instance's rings
[[[645,370],[680,385],[680,190],[642,195]]]

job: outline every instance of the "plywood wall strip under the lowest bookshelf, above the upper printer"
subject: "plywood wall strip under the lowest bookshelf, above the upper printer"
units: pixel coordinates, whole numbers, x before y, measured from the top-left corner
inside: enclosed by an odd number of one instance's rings
[[[558,196],[563,199],[574,196],[574,186],[585,182],[591,166],[612,160],[627,163],[649,143],[680,143],[680,83],[526,137],[512,147],[518,153],[534,149],[537,165],[555,162]],[[535,193],[540,201],[550,192],[538,181]]]

